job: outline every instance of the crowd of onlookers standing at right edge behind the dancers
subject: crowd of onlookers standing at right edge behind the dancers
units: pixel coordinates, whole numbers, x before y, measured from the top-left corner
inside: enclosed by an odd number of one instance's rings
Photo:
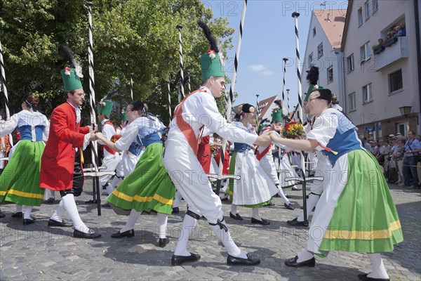
[[[386,180],[408,188],[420,187],[421,136],[413,131],[408,131],[407,136],[390,134],[377,141],[370,136],[362,137],[361,143],[383,167]]]

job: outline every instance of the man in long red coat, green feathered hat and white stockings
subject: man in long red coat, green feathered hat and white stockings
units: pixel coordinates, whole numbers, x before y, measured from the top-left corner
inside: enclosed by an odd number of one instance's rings
[[[80,127],[81,110],[85,100],[78,67],[65,67],[62,80],[65,85],[66,102],[55,107],[51,114],[50,135],[41,157],[41,188],[60,191],[61,200],[48,226],[72,226],[63,221],[65,211],[74,225],[73,236],[98,238],[101,235],[89,229],[79,216],[74,197],[81,195],[83,170],[81,150],[94,141],[95,131],[88,126]]]

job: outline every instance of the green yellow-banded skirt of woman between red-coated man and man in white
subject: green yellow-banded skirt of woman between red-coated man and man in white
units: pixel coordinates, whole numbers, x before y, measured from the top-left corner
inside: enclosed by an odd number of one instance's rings
[[[148,145],[135,169],[107,198],[116,214],[156,211],[171,214],[175,186],[162,163],[162,143]]]

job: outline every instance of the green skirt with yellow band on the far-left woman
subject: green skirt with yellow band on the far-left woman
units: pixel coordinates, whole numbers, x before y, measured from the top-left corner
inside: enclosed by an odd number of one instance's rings
[[[42,141],[22,140],[0,176],[0,202],[41,206],[44,188],[39,188]]]

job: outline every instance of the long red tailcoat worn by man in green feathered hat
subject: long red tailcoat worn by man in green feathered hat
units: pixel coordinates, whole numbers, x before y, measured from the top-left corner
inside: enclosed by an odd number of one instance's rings
[[[83,138],[89,133],[88,126],[79,126],[79,123],[76,124],[76,110],[72,105],[62,103],[55,107],[51,114],[50,135],[41,157],[41,188],[72,188],[76,148],[81,153]]]

